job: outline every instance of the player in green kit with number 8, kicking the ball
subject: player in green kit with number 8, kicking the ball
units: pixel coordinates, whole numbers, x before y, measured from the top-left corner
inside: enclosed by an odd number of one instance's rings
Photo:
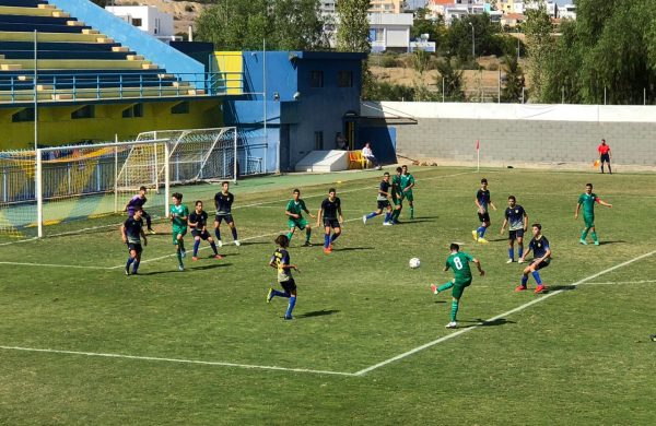
[[[456,315],[458,313],[458,304],[460,303],[460,297],[462,297],[462,292],[465,292],[465,287],[468,287],[471,284],[471,270],[469,269],[469,262],[476,263],[476,267],[479,270],[481,276],[485,274],[485,271],[481,268],[481,262],[478,259],[471,257],[468,253],[460,252],[460,246],[457,244],[450,245],[450,255],[446,259],[446,265],[444,267],[444,272],[449,269],[454,270],[454,279],[446,284],[442,284],[441,286],[436,286],[435,284],[431,284],[431,291],[433,294],[437,294],[440,292],[444,292],[445,289],[453,288],[452,291],[452,312],[450,312],[450,322],[446,324],[447,329],[455,329],[458,327],[458,322],[456,321]]]

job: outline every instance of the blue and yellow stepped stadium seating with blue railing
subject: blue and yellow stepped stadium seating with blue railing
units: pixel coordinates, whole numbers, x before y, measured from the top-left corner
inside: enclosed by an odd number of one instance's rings
[[[47,1],[0,0],[0,103],[34,102],[35,92],[52,103],[197,97],[198,79],[166,72]]]

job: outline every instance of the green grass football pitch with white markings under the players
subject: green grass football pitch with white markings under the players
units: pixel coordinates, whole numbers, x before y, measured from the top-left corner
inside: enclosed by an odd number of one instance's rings
[[[390,227],[361,221],[379,173],[245,180],[232,189],[242,247],[214,260],[203,242],[185,272],[166,223],[140,276],[124,275],[117,227],[0,247],[0,424],[654,424],[656,177],[411,171],[417,218]],[[499,208],[488,245],[471,239],[483,176]],[[598,247],[578,244],[574,221],[587,181],[613,204],[597,208]],[[302,273],[284,321],[286,303],[265,301],[267,263],[297,186],[313,212],[336,186],[347,223],[329,256],[317,229],[315,247],[292,240]],[[185,202],[218,188],[186,188]],[[551,241],[547,294],[513,292],[523,267],[505,263],[499,233],[508,194]],[[444,328],[450,295],[429,289],[452,277],[452,241],[487,271],[458,330]]]

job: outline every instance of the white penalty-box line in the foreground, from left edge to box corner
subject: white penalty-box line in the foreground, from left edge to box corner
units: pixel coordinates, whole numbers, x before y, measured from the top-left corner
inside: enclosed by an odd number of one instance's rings
[[[164,362],[164,363],[178,363],[178,364],[200,364],[200,365],[235,367],[235,368],[246,368],[246,369],[309,372],[309,374],[315,374],[315,375],[353,376],[352,372],[342,372],[342,371],[313,370],[313,369],[307,369],[307,368],[286,368],[286,367],[277,367],[277,366],[266,366],[266,365],[222,363],[222,362],[213,362],[213,360],[161,358],[161,357],[155,357],[155,356],[103,354],[103,353],[95,353],[95,352],[60,351],[60,350],[47,350],[47,348],[38,348],[38,347],[20,347],[20,346],[0,346],[0,348],[5,350],[5,351],[23,351],[23,352],[42,352],[42,353],[48,353],[48,354],[98,356],[98,357],[104,357],[104,358],[139,359],[139,360],[153,360],[153,362]]]

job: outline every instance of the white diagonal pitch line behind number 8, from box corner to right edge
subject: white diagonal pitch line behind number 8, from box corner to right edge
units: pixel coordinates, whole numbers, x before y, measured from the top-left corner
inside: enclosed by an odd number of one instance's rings
[[[612,271],[614,271],[614,270],[617,270],[617,269],[623,268],[623,267],[625,267],[625,265],[628,265],[628,264],[631,264],[631,263],[633,263],[633,262],[636,262],[636,261],[639,261],[639,260],[642,260],[642,259],[644,259],[644,258],[647,258],[647,257],[649,257],[649,256],[653,256],[653,255],[656,255],[656,250],[654,250],[654,251],[649,251],[648,253],[645,253],[645,255],[639,256],[639,257],[636,257],[636,258],[633,258],[633,259],[631,259],[631,260],[628,260],[628,261],[625,261],[625,262],[622,262],[622,263],[620,263],[620,264],[616,264],[614,267],[611,267],[611,268],[605,269],[605,270],[604,270],[604,271],[601,271],[601,272],[597,272],[596,274],[593,274],[593,275],[590,275],[590,276],[587,276],[587,277],[585,277],[585,279],[583,279],[583,280],[579,280],[579,281],[577,281],[577,282],[575,282],[575,283],[573,283],[573,284],[570,284],[570,286],[572,286],[572,287],[576,287],[576,286],[578,286],[578,285],[581,285],[581,284],[584,284],[584,283],[586,283],[586,282],[588,282],[588,281],[591,281],[591,280],[596,279],[597,276],[600,276],[600,275],[607,274],[607,273],[609,273],[609,272],[612,272]],[[440,344],[440,343],[442,343],[442,342],[446,342],[447,340],[450,340],[450,339],[457,338],[458,335],[461,335],[461,334],[468,333],[468,332],[470,332],[470,331],[472,331],[472,330],[476,330],[476,329],[478,329],[479,327],[482,327],[482,326],[483,326],[485,322],[493,322],[493,321],[496,321],[496,320],[499,320],[499,319],[502,319],[502,318],[504,318],[504,317],[507,317],[507,316],[509,316],[509,315],[513,315],[513,313],[515,313],[515,312],[519,312],[519,311],[522,311],[522,310],[524,310],[524,309],[528,308],[529,306],[532,306],[532,305],[539,304],[539,303],[541,303],[541,301],[544,301],[544,300],[547,300],[548,298],[550,298],[550,297],[552,297],[552,296],[555,296],[555,295],[559,295],[559,294],[561,294],[561,293],[563,293],[563,292],[565,292],[565,289],[557,289],[555,292],[549,292],[549,293],[547,293],[546,295],[542,295],[542,296],[540,296],[539,298],[536,298],[536,299],[534,299],[534,300],[531,300],[531,301],[529,301],[529,303],[527,303],[527,304],[520,305],[520,306],[518,306],[518,307],[516,307],[516,308],[514,308],[514,309],[511,309],[511,310],[508,310],[508,311],[506,311],[506,312],[500,313],[500,315],[497,315],[496,317],[492,317],[492,318],[490,318],[490,319],[485,320],[484,322],[480,322],[480,323],[478,323],[478,324],[475,324],[475,326],[472,326],[472,327],[469,327],[469,328],[467,328],[467,329],[461,329],[461,330],[458,330],[458,331],[456,331],[456,332],[454,332],[454,333],[447,334],[447,335],[445,335],[445,336],[443,336],[443,338],[440,338],[440,339],[437,339],[437,340],[434,340],[434,341],[432,341],[432,342],[429,342],[429,343],[426,343],[426,344],[423,344],[423,345],[421,345],[421,346],[418,346],[418,347],[415,347],[415,348],[413,348],[413,350],[410,350],[410,351],[408,351],[408,352],[405,352],[405,353],[402,353],[402,354],[400,354],[400,355],[397,355],[397,356],[395,356],[395,357],[391,357],[391,358],[389,358],[389,359],[385,359],[385,360],[383,360],[383,362],[380,362],[380,363],[378,363],[378,364],[374,364],[374,365],[373,365],[373,366],[371,366],[371,367],[367,367],[367,368],[364,368],[364,369],[362,369],[362,370],[360,370],[360,371],[356,371],[356,372],[354,372],[354,374],[353,374],[353,376],[363,376],[363,375],[365,375],[365,374],[367,374],[367,372],[370,372],[370,371],[373,371],[373,370],[375,370],[375,369],[377,369],[377,368],[384,367],[384,366],[386,366],[386,365],[388,365],[388,364],[390,364],[390,363],[394,363],[394,362],[396,362],[396,360],[399,360],[399,359],[406,358],[406,357],[408,357],[408,356],[410,356],[410,355],[413,355],[413,354],[415,354],[415,353],[418,353],[418,352],[420,352],[420,351],[423,351],[423,350],[425,350],[425,348],[429,348],[429,347],[431,347],[431,346],[434,346],[434,345],[436,345],[436,344]]]

